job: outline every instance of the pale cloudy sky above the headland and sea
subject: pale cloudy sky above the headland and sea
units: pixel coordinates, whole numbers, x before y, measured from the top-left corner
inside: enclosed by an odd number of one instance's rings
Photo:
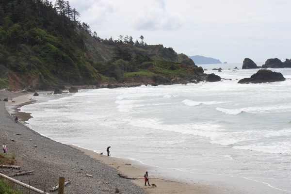
[[[68,1],[103,39],[143,35],[147,45],[222,63],[291,59],[291,0]]]

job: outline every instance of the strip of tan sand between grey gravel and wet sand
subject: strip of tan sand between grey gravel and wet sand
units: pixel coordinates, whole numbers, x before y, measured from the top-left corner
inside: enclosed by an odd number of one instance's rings
[[[86,155],[97,161],[112,166],[113,168],[117,169],[119,173],[123,176],[127,176],[128,178],[136,178],[131,179],[131,182],[135,183],[149,194],[222,194],[220,192],[217,193],[216,187],[203,183],[196,183],[193,185],[171,178],[156,176],[153,177],[151,173],[157,171],[157,167],[148,166],[146,164],[142,164],[140,162],[130,159],[107,156],[106,153],[100,155],[99,153],[92,150],[84,149],[74,145],[68,146],[72,146],[84,152]],[[151,184],[151,186],[144,185],[144,174],[146,173],[146,171],[148,171],[149,173],[149,183]],[[152,187],[152,184],[155,184],[157,187]]]

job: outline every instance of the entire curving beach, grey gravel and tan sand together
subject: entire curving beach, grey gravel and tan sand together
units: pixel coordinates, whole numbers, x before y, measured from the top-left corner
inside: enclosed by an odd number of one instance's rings
[[[5,96],[6,95],[6,96]],[[9,96],[10,95],[10,96]],[[91,150],[73,145],[64,145],[43,137],[22,125],[30,115],[17,112],[17,107],[32,103],[32,94],[0,92],[0,99],[13,98],[15,102],[6,102],[6,110],[20,118],[15,124],[13,116],[4,111],[4,102],[0,101],[0,136],[8,150],[16,154],[18,165],[24,165],[27,170],[35,169],[36,173],[17,177],[23,182],[31,182],[36,188],[47,189],[56,186],[59,176],[72,180],[66,193],[114,193],[118,188],[120,193],[127,194],[288,194],[278,191],[265,184],[244,178],[230,178],[217,175],[195,175],[191,181],[183,181],[183,172],[148,166],[137,161],[108,157]],[[21,133],[21,136],[17,136]],[[14,138],[16,141],[11,142]],[[148,171],[149,183],[157,187],[145,186],[144,174]],[[41,172],[46,172],[45,175]],[[167,173],[165,173],[167,172]],[[176,175],[169,177],[168,173]],[[4,172],[11,175],[12,172]],[[121,178],[118,174],[127,176]],[[93,177],[88,177],[91,175]],[[45,186],[44,186],[45,182]]]

